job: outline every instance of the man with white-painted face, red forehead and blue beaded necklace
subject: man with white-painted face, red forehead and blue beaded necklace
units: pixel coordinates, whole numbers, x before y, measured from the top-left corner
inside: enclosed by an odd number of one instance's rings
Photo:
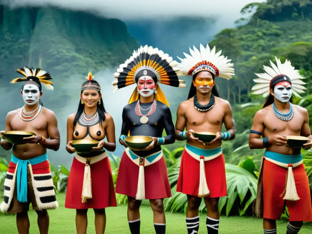
[[[310,149],[312,136],[308,111],[291,104],[292,95],[300,97],[306,83],[299,71],[275,57],[266,73],[256,74],[254,94],[267,96],[263,108],[257,111],[249,135],[250,149],[266,149],[258,177],[254,210],[263,217],[264,233],[276,234],[276,220],[280,219],[285,203],[289,211],[287,234],[298,233],[302,223],[312,221],[310,187],[301,147],[291,148],[288,139],[303,139],[303,149]],[[301,97],[300,97],[301,98]],[[261,139],[261,136],[263,137]]]

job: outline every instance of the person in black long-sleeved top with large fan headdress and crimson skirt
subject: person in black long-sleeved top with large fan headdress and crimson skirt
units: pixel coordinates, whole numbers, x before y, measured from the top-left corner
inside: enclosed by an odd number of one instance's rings
[[[166,163],[161,145],[172,144],[174,125],[168,101],[159,83],[186,87],[177,62],[157,48],[141,46],[121,64],[114,74],[114,91],[137,84],[122,113],[120,144],[126,147],[122,155],[116,193],[128,196],[128,221],[131,234],[140,233],[141,201],[149,199],[154,212],[156,234],[166,231],[163,198],[171,197]],[[167,136],[162,137],[163,129]],[[150,136],[153,141],[142,151],[129,149],[127,136]]]

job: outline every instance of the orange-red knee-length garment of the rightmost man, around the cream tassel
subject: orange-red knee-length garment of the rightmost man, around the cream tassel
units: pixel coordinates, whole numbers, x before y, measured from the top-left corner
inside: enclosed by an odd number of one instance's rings
[[[264,160],[263,176],[262,176],[262,196],[263,196],[263,217],[266,219],[278,220],[284,206],[289,212],[289,221],[312,221],[312,207],[310,187],[305,166],[301,164],[298,167],[292,168],[295,178],[295,184],[298,196],[298,201],[285,201],[280,194],[284,191],[285,178],[287,168],[280,167],[275,163]]]

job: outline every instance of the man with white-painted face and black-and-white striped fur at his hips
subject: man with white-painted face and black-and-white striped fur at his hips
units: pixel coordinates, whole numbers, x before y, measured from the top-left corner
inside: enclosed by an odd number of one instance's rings
[[[42,106],[40,98],[41,83],[50,90],[53,90],[53,83],[50,74],[41,68],[23,67],[17,72],[25,77],[16,78],[11,83],[24,81],[21,95],[25,104],[7,114],[5,131],[1,131],[1,146],[5,150],[12,149],[12,157],[0,209],[16,213],[18,233],[28,234],[27,212],[32,203],[38,214],[39,231],[46,234],[49,229],[47,209],[58,207],[46,149],[59,149],[60,133],[55,114]],[[9,131],[26,131],[34,135],[23,138],[25,144],[11,144],[5,139]]]

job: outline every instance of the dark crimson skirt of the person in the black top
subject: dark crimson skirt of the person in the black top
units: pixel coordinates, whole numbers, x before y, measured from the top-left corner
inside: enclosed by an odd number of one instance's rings
[[[136,197],[139,166],[124,152],[119,164],[116,193]],[[171,197],[171,189],[165,159],[144,167],[145,199]]]

